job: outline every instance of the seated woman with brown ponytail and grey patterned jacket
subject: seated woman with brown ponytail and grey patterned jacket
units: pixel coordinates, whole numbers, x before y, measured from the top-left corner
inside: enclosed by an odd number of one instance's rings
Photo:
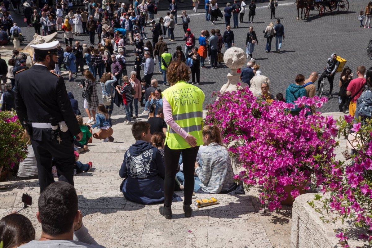
[[[195,163],[195,173],[202,182],[198,193],[229,193],[237,184],[234,182],[229,152],[222,146],[217,125],[203,128],[203,142],[208,147],[201,154],[200,166]]]

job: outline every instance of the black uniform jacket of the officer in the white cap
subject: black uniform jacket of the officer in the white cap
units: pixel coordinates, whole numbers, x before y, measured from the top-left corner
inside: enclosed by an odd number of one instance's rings
[[[80,133],[63,77],[46,66],[35,64],[16,73],[15,108],[21,123],[50,123],[54,117],[58,122],[65,121],[72,136]]]

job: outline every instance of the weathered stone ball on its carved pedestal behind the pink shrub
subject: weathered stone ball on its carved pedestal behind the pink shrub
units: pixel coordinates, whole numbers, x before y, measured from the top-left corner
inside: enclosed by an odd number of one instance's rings
[[[248,87],[246,83],[240,81],[240,73],[236,72],[246,63],[246,54],[243,49],[230,47],[224,54],[224,63],[231,69],[231,72],[227,74],[227,83],[222,85],[220,92],[235,91],[238,83],[241,87]]]

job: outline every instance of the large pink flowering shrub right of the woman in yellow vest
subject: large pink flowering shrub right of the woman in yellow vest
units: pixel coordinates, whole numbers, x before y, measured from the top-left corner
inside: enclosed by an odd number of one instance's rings
[[[296,198],[299,188],[325,183],[336,147],[336,121],[319,113],[307,116],[306,111],[311,105],[320,108],[326,98],[298,99],[295,104],[303,109],[292,116],[293,104],[257,100],[248,88],[217,96],[207,106],[205,124],[220,127],[231,155],[244,168],[234,178],[242,180],[246,189],[259,185],[260,201],[270,211],[281,208],[280,201],[288,196],[285,187]]]

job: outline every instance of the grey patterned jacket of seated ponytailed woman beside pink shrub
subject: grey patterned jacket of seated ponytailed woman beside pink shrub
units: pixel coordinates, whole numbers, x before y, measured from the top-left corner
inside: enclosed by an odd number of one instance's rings
[[[232,187],[234,172],[227,149],[217,143],[211,143],[201,154],[200,166],[196,168],[200,187],[203,191],[218,194]]]

